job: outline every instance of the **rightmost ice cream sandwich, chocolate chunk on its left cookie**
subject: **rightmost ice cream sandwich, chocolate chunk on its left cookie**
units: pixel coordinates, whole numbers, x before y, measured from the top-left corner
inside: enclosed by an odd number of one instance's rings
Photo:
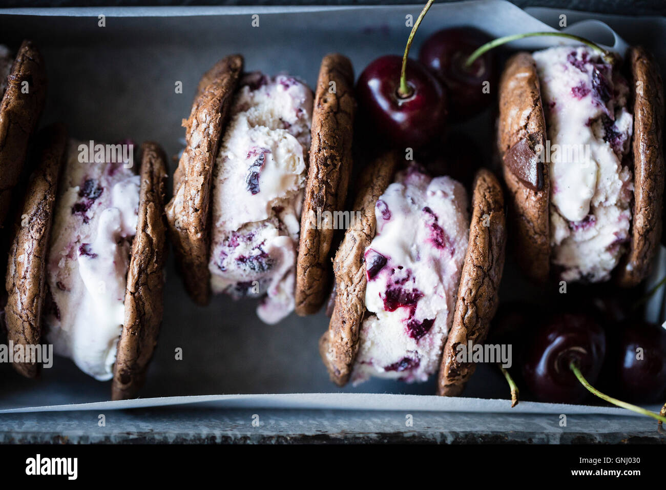
[[[536,281],[623,287],[650,271],[661,239],[663,85],[631,47],[513,55],[500,81],[498,154],[515,257]]]

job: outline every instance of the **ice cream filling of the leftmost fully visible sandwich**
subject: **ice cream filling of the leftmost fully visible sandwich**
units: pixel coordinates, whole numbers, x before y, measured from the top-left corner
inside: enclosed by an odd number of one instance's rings
[[[126,162],[85,155],[79,142],[69,143],[49,244],[45,325],[55,353],[106,381],[125,318],[141,181]]]

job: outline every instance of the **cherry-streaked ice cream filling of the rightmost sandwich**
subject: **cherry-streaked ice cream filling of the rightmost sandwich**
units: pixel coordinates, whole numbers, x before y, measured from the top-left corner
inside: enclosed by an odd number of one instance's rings
[[[554,47],[533,58],[550,148],[552,261],[565,281],[605,281],[631,226],[629,87],[587,47]]]

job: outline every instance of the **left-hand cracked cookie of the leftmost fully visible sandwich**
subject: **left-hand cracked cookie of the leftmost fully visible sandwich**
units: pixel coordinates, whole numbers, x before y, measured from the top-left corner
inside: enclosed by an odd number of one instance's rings
[[[65,159],[67,131],[52,125],[39,134],[40,163],[33,173],[17,218],[7,264],[7,339],[14,345],[38,345],[45,297],[45,267],[58,180]],[[25,377],[35,377],[35,363],[13,363]]]

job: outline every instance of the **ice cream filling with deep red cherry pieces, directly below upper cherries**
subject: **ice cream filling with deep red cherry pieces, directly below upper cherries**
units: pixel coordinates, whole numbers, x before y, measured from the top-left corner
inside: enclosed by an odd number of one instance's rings
[[[470,232],[468,197],[450,177],[413,165],[375,207],[365,252],[365,303],[352,382],[371,376],[426,381],[440,367]]]

